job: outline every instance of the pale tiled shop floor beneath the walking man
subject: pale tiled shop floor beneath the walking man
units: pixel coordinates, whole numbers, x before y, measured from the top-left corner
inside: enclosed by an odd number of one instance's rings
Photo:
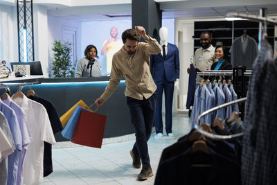
[[[154,184],[157,166],[163,148],[175,143],[190,130],[187,116],[174,116],[172,133],[176,139],[155,139],[154,133],[148,141],[150,162],[154,173],[148,180],[139,182],[141,169],[132,167],[129,155],[134,140],[103,145],[101,149],[79,147],[53,149],[53,173],[44,177],[44,185],[79,184]]]

